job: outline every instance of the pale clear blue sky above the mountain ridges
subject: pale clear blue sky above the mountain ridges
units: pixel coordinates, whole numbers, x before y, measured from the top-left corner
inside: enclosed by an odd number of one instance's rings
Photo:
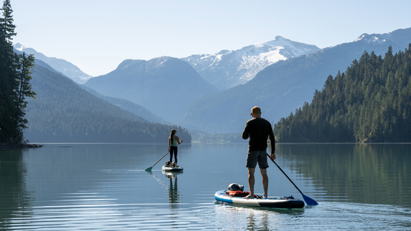
[[[92,76],[125,59],[236,50],[283,36],[317,47],[411,27],[411,1],[12,0],[20,42]],[[410,41],[411,42],[411,41]]]

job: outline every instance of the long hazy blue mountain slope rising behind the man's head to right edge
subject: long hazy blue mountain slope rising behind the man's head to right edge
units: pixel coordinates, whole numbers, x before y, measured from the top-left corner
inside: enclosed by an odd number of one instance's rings
[[[253,106],[262,108],[262,117],[271,123],[312,101],[316,89],[323,88],[329,75],[344,72],[364,51],[384,57],[408,48],[411,28],[387,34],[363,34],[353,42],[328,47],[308,55],[279,61],[260,71],[253,80],[208,95],[193,102],[181,125],[211,133],[242,132]]]

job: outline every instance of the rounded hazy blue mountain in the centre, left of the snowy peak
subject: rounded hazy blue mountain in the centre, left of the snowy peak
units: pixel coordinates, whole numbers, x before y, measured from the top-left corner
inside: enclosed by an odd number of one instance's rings
[[[84,84],[102,95],[127,99],[175,123],[188,106],[217,89],[183,60],[124,60],[117,69]]]

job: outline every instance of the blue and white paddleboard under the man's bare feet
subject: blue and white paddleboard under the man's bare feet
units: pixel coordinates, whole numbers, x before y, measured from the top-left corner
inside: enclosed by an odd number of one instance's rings
[[[294,199],[294,197],[268,197],[262,198],[256,196],[254,199],[244,199],[242,195],[228,195],[227,190],[221,190],[216,192],[214,198],[217,202],[225,204],[234,204],[238,206],[253,206],[264,208],[303,208],[305,203],[300,199]]]

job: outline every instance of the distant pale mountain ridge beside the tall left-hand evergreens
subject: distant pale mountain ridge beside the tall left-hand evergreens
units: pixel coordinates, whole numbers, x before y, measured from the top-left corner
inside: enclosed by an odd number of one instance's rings
[[[27,54],[33,54],[36,59],[42,60],[42,62],[49,64],[49,66],[55,69],[55,71],[62,73],[66,77],[71,78],[71,80],[79,84],[84,84],[88,79],[92,77],[84,73],[71,62],[67,62],[66,60],[62,60],[60,58],[47,57],[44,54],[37,52],[35,49],[24,47],[20,43],[16,43],[14,45],[14,49],[16,49],[17,51],[25,52]]]

